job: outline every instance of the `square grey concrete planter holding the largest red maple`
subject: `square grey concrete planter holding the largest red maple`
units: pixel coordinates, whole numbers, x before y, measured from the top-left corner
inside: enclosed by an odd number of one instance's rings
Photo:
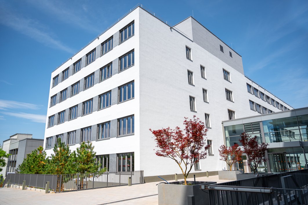
[[[215,184],[216,182],[196,182],[196,185],[181,185],[184,181],[172,182],[177,184],[158,184],[159,205],[188,205],[188,196],[194,196],[195,205],[209,204],[209,194],[200,189],[201,184]],[[187,181],[187,183],[194,183]]]

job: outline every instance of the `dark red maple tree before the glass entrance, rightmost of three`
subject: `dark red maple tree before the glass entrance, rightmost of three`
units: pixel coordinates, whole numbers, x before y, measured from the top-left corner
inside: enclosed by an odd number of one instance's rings
[[[259,164],[267,161],[265,159],[265,151],[269,144],[265,142],[258,144],[257,136],[251,137],[245,132],[241,134],[239,141],[244,148],[244,153],[247,155],[247,161],[255,174]]]

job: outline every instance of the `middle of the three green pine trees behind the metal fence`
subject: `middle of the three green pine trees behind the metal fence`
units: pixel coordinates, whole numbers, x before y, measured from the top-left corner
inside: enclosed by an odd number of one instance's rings
[[[71,166],[69,156],[71,154],[70,148],[61,142],[59,138],[53,149],[55,154],[51,154],[51,159],[47,165],[48,174],[71,174]]]

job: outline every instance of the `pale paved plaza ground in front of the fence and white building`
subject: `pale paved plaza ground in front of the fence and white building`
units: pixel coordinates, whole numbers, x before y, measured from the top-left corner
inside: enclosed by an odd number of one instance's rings
[[[193,179],[188,179],[193,180]],[[198,177],[196,181],[219,180],[217,176]],[[16,188],[0,189],[0,204],[158,204],[158,182],[108,187],[65,193],[45,194]]]

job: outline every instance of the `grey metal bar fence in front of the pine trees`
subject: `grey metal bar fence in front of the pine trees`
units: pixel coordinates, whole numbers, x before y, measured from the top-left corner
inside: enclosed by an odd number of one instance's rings
[[[43,175],[43,174],[8,174],[4,183],[22,185],[26,180],[26,186],[45,188],[46,182],[50,182],[49,189],[55,192],[78,191],[103,187],[113,187],[144,183],[143,171],[118,171],[85,174]]]

